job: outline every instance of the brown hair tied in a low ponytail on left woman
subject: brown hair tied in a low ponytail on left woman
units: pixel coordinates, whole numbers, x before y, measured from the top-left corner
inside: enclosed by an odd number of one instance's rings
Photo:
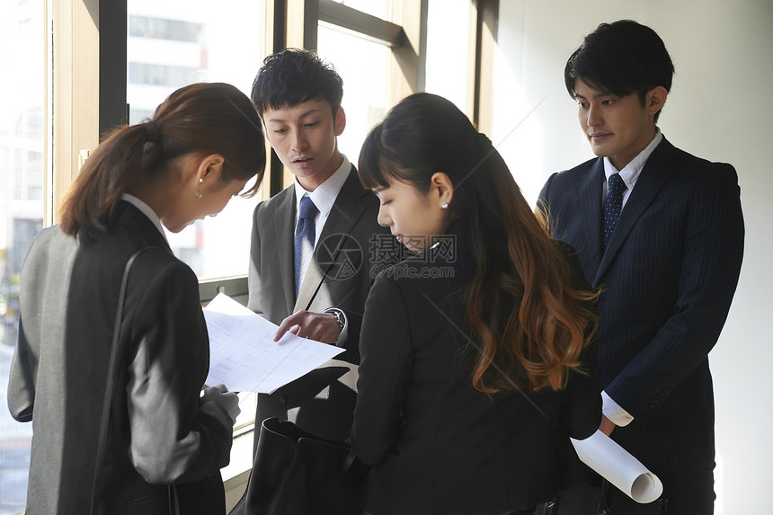
[[[143,123],[113,129],[86,160],[62,204],[61,230],[78,231],[110,209],[132,184],[168,172],[174,158],[191,152],[225,159],[221,179],[250,179],[250,197],[260,188],[266,165],[258,113],[235,86],[200,83],[184,86]]]

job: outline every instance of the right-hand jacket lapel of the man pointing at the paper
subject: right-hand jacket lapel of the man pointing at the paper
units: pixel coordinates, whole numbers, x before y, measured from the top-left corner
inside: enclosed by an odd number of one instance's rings
[[[357,176],[354,166],[351,166],[349,176],[343,183],[341,191],[333,202],[333,209],[324,223],[322,234],[319,235],[319,241],[314,248],[314,259],[309,263],[303,284],[298,291],[298,300],[296,301],[293,313],[299,309],[308,309],[315,297],[321,295],[325,274],[327,274],[333,264],[338,262],[337,257],[341,253],[344,244],[348,243],[346,235],[351,233],[351,229],[362,216],[362,213],[368,209],[368,204],[362,201],[362,197],[369,191],[364,190]],[[338,237],[340,236],[340,237]],[[324,262],[320,264],[318,256],[320,248],[325,245]],[[332,258],[332,259],[329,259]],[[329,297],[329,296],[328,296]],[[329,300],[320,298],[321,303],[328,303]],[[324,301],[324,302],[322,302]],[[331,304],[326,304],[331,306]]]

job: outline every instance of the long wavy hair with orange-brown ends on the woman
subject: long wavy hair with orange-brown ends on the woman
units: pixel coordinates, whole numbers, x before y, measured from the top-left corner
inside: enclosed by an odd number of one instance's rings
[[[491,141],[453,103],[416,93],[371,130],[358,172],[369,189],[397,180],[425,194],[436,172],[453,182],[449,217],[475,263],[463,293],[473,386],[563,388],[595,332],[598,295],[573,289],[569,263]]]

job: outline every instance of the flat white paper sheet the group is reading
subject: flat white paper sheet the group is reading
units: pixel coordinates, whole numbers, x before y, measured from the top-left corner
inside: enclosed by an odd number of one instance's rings
[[[271,394],[343,351],[292,333],[274,342],[277,325],[222,293],[204,308],[204,318],[209,331],[207,385],[222,383],[233,392]]]

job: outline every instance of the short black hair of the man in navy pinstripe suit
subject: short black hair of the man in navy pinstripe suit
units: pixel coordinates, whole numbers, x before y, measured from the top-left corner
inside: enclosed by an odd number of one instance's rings
[[[657,32],[633,20],[601,23],[585,37],[566,61],[566,90],[577,97],[581,79],[593,89],[617,96],[637,93],[644,105],[646,93],[663,86],[671,91],[674,66]],[[660,111],[655,113],[658,120]]]

